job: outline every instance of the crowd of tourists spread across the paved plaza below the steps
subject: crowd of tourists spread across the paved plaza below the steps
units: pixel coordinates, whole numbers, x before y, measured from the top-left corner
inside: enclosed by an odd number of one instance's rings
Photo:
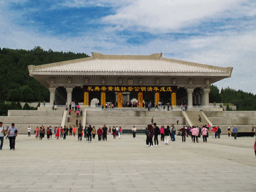
[[[171,124],[171,126],[164,125],[159,128],[156,123],[154,122],[154,118],[152,117],[151,123],[149,124],[146,129],[144,130],[146,134],[146,146],[159,146],[159,135],[161,142],[164,142],[165,145],[169,145],[169,140],[171,139],[171,142],[176,141],[176,135],[181,136],[181,141],[186,142],[188,137],[190,137],[191,141],[193,143],[199,142],[199,139],[202,137],[203,142],[207,142],[209,137],[209,131],[212,133],[213,139],[220,139],[221,129],[220,127],[210,127],[210,124],[206,124],[203,127],[186,127],[183,126],[181,129],[177,129],[174,126],[174,124]],[[178,124],[178,119],[177,119]],[[0,140],[1,145],[0,149],[2,149],[4,144],[4,137],[6,139],[9,139],[10,142],[10,149],[15,150],[15,140],[16,136],[18,134],[18,129],[15,126],[14,123],[11,124],[10,127],[4,127],[3,123],[0,122]],[[28,137],[31,137],[31,127],[28,126],[27,132]],[[73,126],[73,127],[44,127],[43,125],[41,127],[36,127],[34,130],[34,134],[36,139],[42,140],[45,135],[48,140],[53,139],[53,135],[55,139],[66,139],[68,136],[73,136],[74,138],[78,139],[78,142],[82,141],[82,138],[85,138],[87,142],[92,142],[92,139],[95,139],[97,135],[98,141],[107,141],[107,137],[113,137],[113,139],[116,139],[117,137],[119,139],[122,138],[122,127],[120,126],[112,126],[107,128],[106,125],[103,127],[98,127],[96,129],[95,126],[86,126],[83,128],[82,126]],[[233,127],[232,129],[234,139],[237,139],[238,135],[238,127]],[[137,128],[135,126],[132,127],[132,137],[135,139],[137,134]],[[231,129],[228,127],[228,137],[231,135]],[[153,142],[154,141],[154,142]]]

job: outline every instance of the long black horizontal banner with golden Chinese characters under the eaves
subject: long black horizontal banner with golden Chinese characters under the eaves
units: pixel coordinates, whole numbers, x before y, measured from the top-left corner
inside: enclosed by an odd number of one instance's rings
[[[176,86],[83,86],[84,92],[176,92]]]

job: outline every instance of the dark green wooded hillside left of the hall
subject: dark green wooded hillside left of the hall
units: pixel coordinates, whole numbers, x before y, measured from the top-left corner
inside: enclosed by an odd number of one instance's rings
[[[29,76],[28,65],[43,65],[85,57],[88,57],[85,53],[43,50],[39,46],[32,50],[0,48],[0,115],[6,115],[7,110],[20,110],[22,107],[18,102],[21,101],[49,101],[48,89]]]

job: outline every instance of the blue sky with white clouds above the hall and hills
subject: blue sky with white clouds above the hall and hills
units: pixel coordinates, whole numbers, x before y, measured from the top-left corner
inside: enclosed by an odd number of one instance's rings
[[[255,0],[0,0],[0,47],[148,55],[233,67],[256,92]]]

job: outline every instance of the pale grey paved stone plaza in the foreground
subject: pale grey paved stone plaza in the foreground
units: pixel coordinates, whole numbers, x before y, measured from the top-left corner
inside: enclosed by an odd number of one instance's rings
[[[190,139],[145,147],[144,135],[4,140],[0,191],[256,191],[255,138]]]

